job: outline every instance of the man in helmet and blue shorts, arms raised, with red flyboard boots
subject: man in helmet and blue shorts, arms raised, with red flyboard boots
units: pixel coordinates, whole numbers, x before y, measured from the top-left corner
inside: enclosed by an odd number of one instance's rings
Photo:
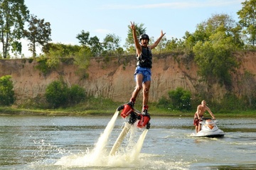
[[[163,38],[166,33],[163,33],[163,30],[161,30],[160,37],[156,40],[156,42],[154,42],[153,45],[149,45],[149,35],[143,33],[139,36],[138,40],[134,23],[131,22],[130,28],[132,29],[134,45],[136,47],[137,67],[134,73],[134,80],[136,81],[136,86],[132,93],[132,98],[130,98],[130,101],[122,106],[119,106],[117,110],[121,111],[123,109],[121,113],[122,118],[126,118],[128,115],[131,114],[129,118],[130,124],[133,124],[136,120],[139,120],[139,123],[137,125],[138,128],[144,128],[146,126],[146,128],[149,129],[150,115],[148,113],[149,106],[147,104],[149,101],[149,88],[151,84],[151,50],[159,44],[161,38]],[[134,109],[136,98],[139,94],[139,91],[141,90],[143,90],[142,113]]]

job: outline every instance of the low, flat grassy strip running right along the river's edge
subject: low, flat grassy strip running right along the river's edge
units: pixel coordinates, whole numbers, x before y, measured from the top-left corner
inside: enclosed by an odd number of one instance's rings
[[[48,115],[48,116],[68,116],[68,115],[113,115],[115,108],[107,108],[105,110],[101,109],[87,109],[84,110],[80,107],[74,108],[59,108],[59,109],[25,109],[25,108],[12,108],[10,107],[0,107],[1,115]],[[181,112],[181,111],[166,111],[164,109],[159,109],[156,107],[151,108],[151,116],[174,116],[174,117],[193,117],[194,113],[191,112]],[[233,111],[229,113],[214,113],[216,118],[256,118],[255,111]],[[205,117],[210,117],[208,113],[205,113]]]

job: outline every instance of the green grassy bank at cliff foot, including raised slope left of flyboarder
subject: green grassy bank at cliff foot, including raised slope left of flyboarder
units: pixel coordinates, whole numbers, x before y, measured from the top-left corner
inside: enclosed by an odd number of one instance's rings
[[[142,106],[137,101],[135,108],[141,110]],[[87,101],[77,106],[58,109],[41,109],[41,108],[19,108],[18,106],[0,106],[0,115],[113,115],[117,107],[124,104],[123,102],[114,102],[105,98],[87,98]],[[194,109],[195,110],[195,109]],[[149,103],[150,115],[164,116],[188,116],[193,117],[195,111],[174,111],[168,108],[157,108],[156,103]],[[225,117],[256,117],[255,111],[230,111],[227,113],[214,113],[217,118]],[[208,113],[205,115],[210,117]]]

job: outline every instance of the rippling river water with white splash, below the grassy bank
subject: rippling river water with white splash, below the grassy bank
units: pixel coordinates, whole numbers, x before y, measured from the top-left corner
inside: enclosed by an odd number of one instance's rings
[[[0,169],[256,169],[256,118],[221,118],[225,136],[208,138],[191,136],[193,115],[151,116],[146,133],[132,127],[109,155],[125,121],[119,115],[2,115]]]

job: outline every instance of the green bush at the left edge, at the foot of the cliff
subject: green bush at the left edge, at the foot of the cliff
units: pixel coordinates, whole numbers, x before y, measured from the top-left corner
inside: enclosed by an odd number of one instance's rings
[[[0,105],[9,106],[14,103],[14,85],[11,76],[6,75],[0,78]]]

